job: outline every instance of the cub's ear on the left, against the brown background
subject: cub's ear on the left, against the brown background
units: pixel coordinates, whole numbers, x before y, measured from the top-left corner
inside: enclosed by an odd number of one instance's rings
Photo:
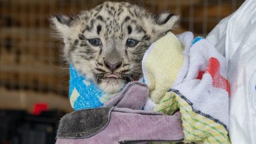
[[[59,36],[63,37],[71,33],[71,24],[74,21],[73,17],[67,15],[55,15],[50,18],[53,29],[57,31]]]

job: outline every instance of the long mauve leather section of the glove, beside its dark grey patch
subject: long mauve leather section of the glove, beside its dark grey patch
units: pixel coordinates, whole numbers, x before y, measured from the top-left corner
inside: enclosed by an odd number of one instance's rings
[[[83,110],[87,111],[87,109]],[[133,111],[131,109],[115,108],[110,113],[111,117],[107,126],[97,135],[83,138],[79,135],[70,137],[57,137],[57,144],[82,144],[82,143],[120,143],[132,141],[180,141],[183,139],[183,127],[181,125],[181,113],[175,115],[162,115],[151,111]],[[80,119],[83,119],[80,117]],[[78,120],[78,119],[77,119]],[[86,125],[83,125],[86,127]],[[80,125],[81,127],[81,125]],[[64,127],[59,127],[59,129]],[[67,133],[70,133],[67,131]],[[65,133],[63,133],[65,135]]]

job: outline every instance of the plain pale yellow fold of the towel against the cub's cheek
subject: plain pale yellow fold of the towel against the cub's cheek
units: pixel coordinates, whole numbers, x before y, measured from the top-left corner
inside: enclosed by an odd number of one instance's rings
[[[143,76],[155,103],[159,103],[175,83],[183,61],[183,47],[173,33],[168,33],[146,51],[142,61]]]

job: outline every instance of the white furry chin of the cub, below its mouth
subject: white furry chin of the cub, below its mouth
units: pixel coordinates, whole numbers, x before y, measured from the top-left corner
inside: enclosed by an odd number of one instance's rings
[[[105,93],[118,93],[125,85],[125,80],[119,78],[103,78],[98,84]]]

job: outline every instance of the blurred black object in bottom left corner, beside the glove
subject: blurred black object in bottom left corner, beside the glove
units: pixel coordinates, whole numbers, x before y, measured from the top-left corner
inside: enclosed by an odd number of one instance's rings
[[[30,115],[25,111],[0,110],[0,144],[55,143],[59,119],[64,114],[43,111]]]

